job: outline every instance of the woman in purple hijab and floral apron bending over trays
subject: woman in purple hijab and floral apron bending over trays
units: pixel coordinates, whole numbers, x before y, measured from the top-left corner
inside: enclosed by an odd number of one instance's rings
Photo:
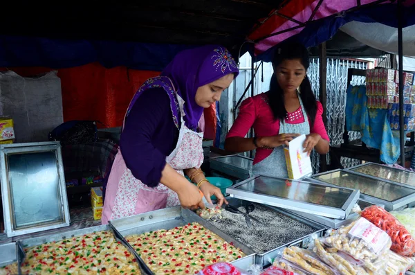
[[[219,206],[228,203],[200,169],[198,123],[238,73],[228,50],[202,46],[178,53],[160,76],[138,89],[107,181],[102,224],[176,205],[203,209],[203,195],[208,202],[215,195]]]

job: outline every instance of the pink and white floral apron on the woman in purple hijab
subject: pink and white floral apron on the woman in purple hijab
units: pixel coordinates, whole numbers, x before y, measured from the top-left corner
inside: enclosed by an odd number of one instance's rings
[[[154,80],[147,81],[151,82]],[[183,111],[184,101],[176,92],[174,92],[171,86],[171,81],[170,85],[167,83],[163,85],[163,82],[160,85],[160,82],[158,82],[158,85],[149,86],[147,89],[151,87],[163,87],[163,89],[167,91],[167,94],[169,94],[170,98],[173,96],[174,102],[180,111],[181,128],[178,141],[176,148],[171,154],[169,154],[166,161],[179,174],[184,175],[184,169],[200,168],[203,163],[203,132],[194,132],[185,126],[185,122],[183,120],[183,116],[185,115]],[[136,94],[140,93],[142,90],[143,89],[139,89]],[[129,109],[131,109],[135,101],[136,95],[133,97],[133,100],[131,100]],[[129,109],[125,117],[127,117]],[[176,125],[178,125],[177,118],[174,114],[173,118]],[[104,209],[102,211],[102,224],[107,224],[109,220],[116,218],[127,217],[130,215],[136,215],[139,213],[145,213],[177,205],[180,205],[178,195],[173,190],[167,188],[167,186],[158,184],[155,188],[151,188],[136,179],[132,175],[131,170],[127,168],[125,161],[122,158],[121,150],[118,149],[116,159],[114,160],[111,168],[107,190],[105,193]]]

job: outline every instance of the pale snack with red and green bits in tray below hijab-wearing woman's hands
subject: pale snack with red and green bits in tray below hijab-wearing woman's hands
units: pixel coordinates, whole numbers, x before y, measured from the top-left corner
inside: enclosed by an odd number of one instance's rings
[[[229,263],[245,256],[201,224],[131,235],[129,244],[154,274],[195,274],[212,263]]]

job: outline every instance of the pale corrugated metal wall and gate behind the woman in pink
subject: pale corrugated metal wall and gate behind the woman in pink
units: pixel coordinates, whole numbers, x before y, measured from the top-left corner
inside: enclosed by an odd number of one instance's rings
[[[232,83],[232,85],[230,85],[228,93],[223,93],[221,98],[220,109],[221,121],[223,122],[221,146],[223,146],[225,134],[228,132],[234,121],[234,106],[243,95],[243,91],[245,91],[248,83],[251,80],[250,62],[251,58],[249,54],[243,55],[243,57],[241,57],[241,73],[238,78]],[[273,67],[270,63],[264,63],[262,65],[261,62],[255,63],[255,69],[257,66],[259,66],[259,69],[257,70],[257,75],[255,76],[254,95],[268,91],[270,78],[273,75]],[[366,69],[367,62],[340,59],[327,60],[327,132],[331,139],[331,145],[340,145],[343,142],[342,134],[344,132],[344,109],[346,107],[347,69],[349,68]],[[319,62],[317,58],[310,60],[310,67],[307,73],[315,96],[319,98],[320,75]],[[353,78],[354,85],[361,84],[362,82],[365,82],[364,78]],[[251,89],[248,89],[243,99],[246,99],[250,96]],[[248,133],[248,136],[249,134],[250,133]],[[350,136],[351,140],[360,138],[360,134],[356,132],[350,133]],[[313,154],[312,160],[315,172],[317,172],[320,168],[318,155]],[[358,161],[353,161],[351,159],[342,159],[342,163],[348,167],[351,165],[356,165]]]

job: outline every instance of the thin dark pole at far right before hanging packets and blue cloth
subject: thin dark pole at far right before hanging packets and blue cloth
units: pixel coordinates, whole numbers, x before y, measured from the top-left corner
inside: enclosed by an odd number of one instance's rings
[[[400,165],[405,167],[405,130],[403,129],[403,15],[402,0],[398,0],[398,60],[399,60],[399,126]]]

